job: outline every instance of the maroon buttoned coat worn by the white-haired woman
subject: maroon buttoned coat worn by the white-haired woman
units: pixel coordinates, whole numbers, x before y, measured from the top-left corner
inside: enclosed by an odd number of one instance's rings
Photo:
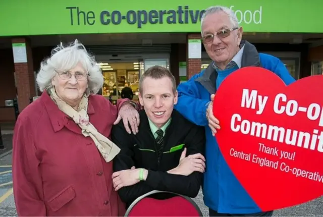
[[[127,99],[126,99],[127,100]],[[118,108],[90,95],[90,122],[110,138]],[[90,137],[44,92],[19,115],[13,138],[13,187],[19,216],[123,216],[125,205]]]

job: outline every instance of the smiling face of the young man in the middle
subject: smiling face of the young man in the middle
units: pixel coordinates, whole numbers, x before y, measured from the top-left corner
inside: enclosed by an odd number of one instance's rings
[[[177,91],[169,77],[153,79],[146,77],[142,82],[142,94],[139,94],[147,117],[158,128],[163,127],[171,118],[174,104],[177,103]]]

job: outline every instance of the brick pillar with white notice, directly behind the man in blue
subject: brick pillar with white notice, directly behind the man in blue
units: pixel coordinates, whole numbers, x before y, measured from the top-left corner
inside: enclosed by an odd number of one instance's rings
[[[187,47],[187,52],[186,52],[186,70],[187,70],[187,79],[190,79],[193,75],[199,73],[201,71],[201,56],[202,56],[202,44],[200,41],[201,35],[200,34],[187,34],[187,42],[186,42],[186,47]],[[197,47],[200,47],[196,52],[192,53],[195,57],[189,58],[190,57],[190,46],[189,43],[194,42],[196,43]]]

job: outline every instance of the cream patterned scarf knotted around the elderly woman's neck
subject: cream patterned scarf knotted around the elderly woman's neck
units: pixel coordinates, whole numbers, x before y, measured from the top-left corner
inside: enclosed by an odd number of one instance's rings
[[[87,114],[88,97],[86,94],[83,95],[79,109],[76,111],[56,94],[54,87],[49,89],[48,93],[60,110],[71,117],[82,129],[82,134],[85,137],[90,136],[92,138],[106,162],[110,162],[120,152],[120,148],[115,143],[100,134],[89,122],[89,116]]]

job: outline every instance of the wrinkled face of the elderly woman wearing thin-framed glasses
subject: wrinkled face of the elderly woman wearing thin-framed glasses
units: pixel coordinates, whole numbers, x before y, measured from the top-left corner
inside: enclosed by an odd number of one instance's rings
[[[87,72],[82,64],[69,71],[57,71],[51,84],[57,95],[72,107],[77,106],[88,87]]]

